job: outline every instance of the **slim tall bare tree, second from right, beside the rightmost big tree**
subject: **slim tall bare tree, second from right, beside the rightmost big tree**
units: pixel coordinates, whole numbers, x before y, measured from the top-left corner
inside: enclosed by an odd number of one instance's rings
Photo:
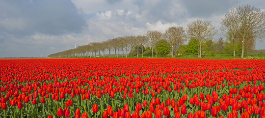
[[[237,9],[230,9],[228,13],[226,13],[225,17],[221,21],[221,31],[226,33],[226,36],[231,38],[231,42],[233,43],[234,57],[236,57],[235,50],[235,42],[238,36],[239,30],[239,17],[238,17]]]

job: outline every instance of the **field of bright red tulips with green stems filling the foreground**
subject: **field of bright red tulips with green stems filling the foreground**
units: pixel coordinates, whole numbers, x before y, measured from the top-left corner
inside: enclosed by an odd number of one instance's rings
[[[1,118],[265,118],[265,60],[2,59]]]

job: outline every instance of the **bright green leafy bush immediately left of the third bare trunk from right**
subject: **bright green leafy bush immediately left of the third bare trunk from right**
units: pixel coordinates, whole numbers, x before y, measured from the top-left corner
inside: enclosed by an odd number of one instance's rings
[[[198,55],[198,41],[195,38],[191,38],[188,41],[188,45],[185,46],[186,55]]]

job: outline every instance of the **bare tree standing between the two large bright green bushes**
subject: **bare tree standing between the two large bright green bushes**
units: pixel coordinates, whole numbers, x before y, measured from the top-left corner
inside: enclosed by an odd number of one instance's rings
[[[175,57],[176,57],[176,45],[182,45],[186,38],[185,29],[183,27],[170,27],[165,33],[164,37],[168,40],[171,45],[171,58],[173,58],[173,47],[175,46]]]

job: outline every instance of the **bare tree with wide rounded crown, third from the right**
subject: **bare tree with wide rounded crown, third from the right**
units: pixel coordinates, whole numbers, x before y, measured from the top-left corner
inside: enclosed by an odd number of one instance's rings
[[[212,25],[212,21],[196,20],[187,25],[187,33],[189,38],[195,38],[198,41],[199,53],[198,57],[202,57],[202,42],[212,39],[212,36],[216,34],[215,27]]]

